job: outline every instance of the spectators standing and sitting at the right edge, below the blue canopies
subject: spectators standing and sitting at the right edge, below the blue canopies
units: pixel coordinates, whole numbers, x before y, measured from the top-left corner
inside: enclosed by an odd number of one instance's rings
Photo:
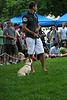
[[[67,23],[62,23],[59,30],[56,26],[52,26],[47,33],[47,38],[50,43],[50,57],[67,56]]]

